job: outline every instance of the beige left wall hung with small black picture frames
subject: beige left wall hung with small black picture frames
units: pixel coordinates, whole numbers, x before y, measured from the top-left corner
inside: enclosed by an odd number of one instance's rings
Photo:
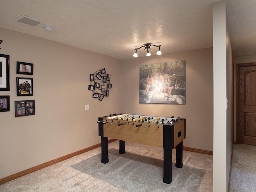
[[[10,91],[0,92],[10,95],[10,112],[0,113],[0,178],[100,143],[98,116],[121,112],[121,61],[5,28],[0,34],[0,54],[10,55]],[[34,75],[16,74],[17,61],[33,63]],[[88,84],[102,68],[113,88],[100,102]],[[16,96],[16,77],[33,78],[34,96]],[[36,115],[15,117],[17,100],[35,100]]]

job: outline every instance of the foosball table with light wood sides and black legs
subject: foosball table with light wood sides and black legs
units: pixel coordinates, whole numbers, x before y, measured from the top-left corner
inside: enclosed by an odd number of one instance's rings
[[[176,147],[176,167],[182,168],[182,147],[186,138],[186,119],[110,114],[98,118],[101,136],[101,162],[108,160],[108,138],[119,140],[119,153],[125,153],[125,142],[164,148],[163,182],[172,182],[172,149]]]

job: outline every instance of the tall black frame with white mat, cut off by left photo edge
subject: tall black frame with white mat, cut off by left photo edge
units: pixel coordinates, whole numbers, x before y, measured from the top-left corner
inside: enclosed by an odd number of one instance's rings
[[[10,91],[10,56],[0,54],[0,91]]]

